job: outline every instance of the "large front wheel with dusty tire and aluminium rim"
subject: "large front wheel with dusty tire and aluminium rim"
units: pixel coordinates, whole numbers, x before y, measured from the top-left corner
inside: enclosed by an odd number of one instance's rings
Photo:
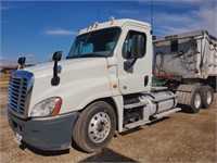
[[[98,101],[80,113],[73,130],[73,140],[81,151],[97,152],[110,143],[115,130],[114,109],[107,102]]]

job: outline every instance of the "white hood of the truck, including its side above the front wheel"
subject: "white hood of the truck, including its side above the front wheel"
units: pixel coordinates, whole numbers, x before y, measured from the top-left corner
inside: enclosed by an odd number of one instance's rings
[[[40,101],[51,97],[60,97],[62,106],[60,114],[82,109],[98,98],[111,97],[111,83],[107,77],[105,58],[81,58],[59,62],[60,84],[51,85],[53,63],[46,63],[26,68],[34,74],[34,86],[28,110]]]

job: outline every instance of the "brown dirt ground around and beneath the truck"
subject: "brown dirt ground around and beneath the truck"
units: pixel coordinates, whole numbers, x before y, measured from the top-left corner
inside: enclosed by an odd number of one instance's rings
[[[0,82],[0,162],[217,162],[217,93],[210,109],[178,112],[130,134],[114,137],[98,153],[75,149],[43,152],[15,143],[7,118],[7,82]]]

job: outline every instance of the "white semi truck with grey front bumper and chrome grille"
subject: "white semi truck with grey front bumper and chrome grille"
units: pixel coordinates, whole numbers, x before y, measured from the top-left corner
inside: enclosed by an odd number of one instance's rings
[[[41,150],[68,149],[74,141],[80,150],[95,152],[108,145],[115,131],[181,110],[179,90],[152,86],[148,23],[95,23],[78,33],[66,60],[61,61],[61,55],[53,54],[54,64],[22,68],[10,76],[8,117],[18,141]],[[23,67],[24,59],[18,63]],[[203,104],[201,87],[180,90],[188,92],[187,104],[194,113]]]

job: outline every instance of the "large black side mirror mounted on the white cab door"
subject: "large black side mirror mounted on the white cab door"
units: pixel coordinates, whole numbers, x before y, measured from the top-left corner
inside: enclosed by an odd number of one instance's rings
[[[144,49],[144,37],[142,35],[132,36],[132,49],[131,49],[131,59],[142,58]]]

